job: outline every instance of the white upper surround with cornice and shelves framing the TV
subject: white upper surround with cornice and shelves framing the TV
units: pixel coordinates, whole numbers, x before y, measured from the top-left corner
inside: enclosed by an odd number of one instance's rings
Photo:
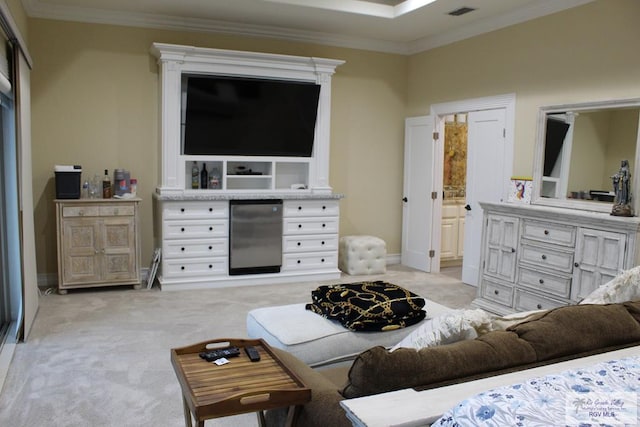
[[[151,53],[160,68],[160,195],[203,191],[191,187],[191,166],[216,165],[221,173],[217,192],[291,191],[330,194],[329,145],[331,128],[331,77],[341,60],[276,55],[223,49],[153,43]],[[181,102],[183,74],[238,76],[313,82],[320,85],[318,115],[311,157],[193,156],[181,152]],[[237,166],[254,165],[255,175],[236,173]]]

